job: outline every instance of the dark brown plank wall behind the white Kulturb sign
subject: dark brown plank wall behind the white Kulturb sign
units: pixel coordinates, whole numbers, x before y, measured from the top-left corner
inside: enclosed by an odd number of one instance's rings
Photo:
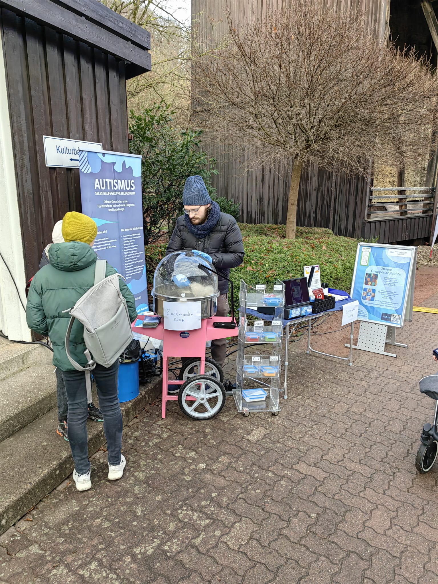
[[[125,65],[14,12],[0,12],[27,277],[56,221],[81,211],[78,169],[47,168],[43,135],[128,151]]]

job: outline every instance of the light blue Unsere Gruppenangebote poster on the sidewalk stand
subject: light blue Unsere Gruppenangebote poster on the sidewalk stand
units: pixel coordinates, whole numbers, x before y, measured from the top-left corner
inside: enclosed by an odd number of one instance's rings
[[[403,326],[415,251],[402,245],[357,245],[350,296],[359,301],[360,321]]]

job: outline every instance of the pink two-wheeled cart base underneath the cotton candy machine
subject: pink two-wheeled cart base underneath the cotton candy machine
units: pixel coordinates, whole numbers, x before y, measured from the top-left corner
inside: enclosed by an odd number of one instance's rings
[[[138,317],[142,320],[144,317]],[[155,329],[145,329],[142,326],[133,326],[133,331],[141,335],[149,335],[153,339],[163,341],[163,390],[162,390],[162,418],[166,417],[166,402],[178,399],[179,407],[190,418],[207,420],[217,415],[225,404],[225,388],[221,383],[223,378],[220,366],[213,360],[207,359],[206,374],[206,342],[213,339],[222,339],[226,335],[237,336],[238,329],[214,328],[214,322],[224,321],[223,317],[204,318],[201,328],[194,331],[168,331],[163,321]],[[168,363],[171,357],[197,357],[184,368],[183,380],[169,382]],[[194,361],[199,363],[199,374],[190,374],[194,369]],[[211,375],[216,377],[211,377]],[[168,385],[182,385],[178,395],[168,394]]]

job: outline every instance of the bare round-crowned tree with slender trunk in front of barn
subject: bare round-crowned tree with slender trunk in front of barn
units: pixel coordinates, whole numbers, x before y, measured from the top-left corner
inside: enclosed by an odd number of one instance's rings
[[[319,6],[318,6],[319,4]],[[293,161],[286,237],[294,238],[303,167],[368,175],[370,159],[404,168],[430,151],[438,84],[427,62],[380,43],[364,16],[292,0],[239,25],[193,62],[194,119],[252,166]],[[286,168],[286,165],[285,165]]]

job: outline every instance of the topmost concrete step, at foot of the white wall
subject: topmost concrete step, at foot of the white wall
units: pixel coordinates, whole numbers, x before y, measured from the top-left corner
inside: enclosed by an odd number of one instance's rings
[[[0,343],[0,381],[34,365],[48,365],[53,353],[41,345],[22,345],[2,339]]]

